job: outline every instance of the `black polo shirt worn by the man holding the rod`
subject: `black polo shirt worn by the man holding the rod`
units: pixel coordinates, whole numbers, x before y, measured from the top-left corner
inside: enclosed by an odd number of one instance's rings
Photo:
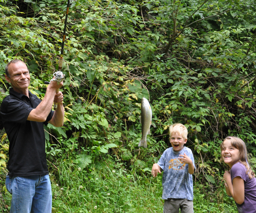
[[[26,95],[10,88],[10,95],[1,103],[0,116],[10,141],[7,168],[10,176],[47,175],[44,124],[53,116],[50,111],[45,122],[27,121],[31,110],[41,102],[36,95]]]

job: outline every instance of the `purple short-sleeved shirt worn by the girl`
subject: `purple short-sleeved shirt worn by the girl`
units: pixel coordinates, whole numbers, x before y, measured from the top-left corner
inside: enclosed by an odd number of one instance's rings
[[[236,205],[239,213],[256,213],[256,178],[249,179],[246,171],[240,162],[234,164],[230,170],[232,182],[237,176],[244,180],[244,202]]]

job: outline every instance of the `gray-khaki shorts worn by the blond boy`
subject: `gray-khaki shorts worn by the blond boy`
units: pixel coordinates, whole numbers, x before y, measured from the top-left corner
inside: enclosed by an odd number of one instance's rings
[[[193,213],[193,201],[187,199],[168,198],[163,206],[163,213]]]

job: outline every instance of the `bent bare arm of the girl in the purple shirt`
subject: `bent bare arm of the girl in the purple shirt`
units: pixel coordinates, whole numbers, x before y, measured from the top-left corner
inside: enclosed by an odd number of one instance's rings
[[[240,176],[237,176],[233,179],[232,184],[231,176],[228,171],[225,171],[223,178],[226,181],[230,194],[236,203],[242,204],[244,202],[244,180]]]

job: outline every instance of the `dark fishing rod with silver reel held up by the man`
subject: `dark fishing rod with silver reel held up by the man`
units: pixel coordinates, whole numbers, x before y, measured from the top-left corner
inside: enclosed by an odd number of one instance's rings
[[[58,84],[60,84],[61,81],[64,80],[65,75],[62,73],[62,66],[63,66],[63,52],[64,52],[64,45],[65,45],[65,36],[66,36],[66,28],[67,28],[67,22],[68,22],[68,10],[69,10],[69,2],[74,2],[74,0],[68,0],[67,4],[67,11],[66,11],[66,17],[64,22],[64,31],[63,31],[63,39],[62,39],[62,45],[61,45],[61,52],[60,52],[60,60],[59,60],[59,68],[57,72],[53,73],[54,79],[51,79],[51,81],[57,81]],[[49,84],[50,82],[45,81],[45,84]],[[59,92],[59,89],[56,89],[56,93]],[[53,109],[57,109],[58,104],[54,103]]]

